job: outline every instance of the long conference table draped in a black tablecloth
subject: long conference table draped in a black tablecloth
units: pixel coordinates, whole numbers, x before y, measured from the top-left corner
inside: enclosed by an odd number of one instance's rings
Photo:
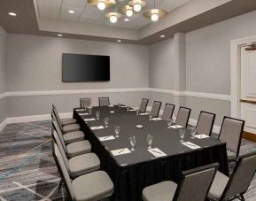
[[[100,158],[101,169],[112,179],[111,200],[142,200],[144,187],[167,180],[178,183],[182,171],[215,162],[220,164],[221,173],[229,175],[226,143],[213,137],[192,139],[188,128],[167,128],[165,120],[150,120],[146,114],[136,115],[135,110],[129,110],[123,104],[93,107],[90,114],[74,108],[74,118]],[[109,118],[107,128],[105,117]],[[120,126],[119,137],[115,137],[116,126]],[[190,146],[180,142],[180,129],[185,131],[183,140]],[[131,135],[136,137],[135,151],[130,151]],[[151,150],[147,135],[153,136]]]

